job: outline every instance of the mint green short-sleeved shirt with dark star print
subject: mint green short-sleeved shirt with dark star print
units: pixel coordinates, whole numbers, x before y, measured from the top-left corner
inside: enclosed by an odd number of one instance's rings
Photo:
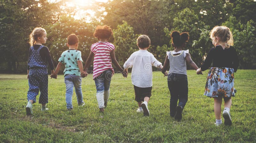
[[[67,74],[80,76],[81,73],[77,65],[78,60],[83,62],[81,51],[69,49],[61,54],[58,61],[65,65],[64,76]]]

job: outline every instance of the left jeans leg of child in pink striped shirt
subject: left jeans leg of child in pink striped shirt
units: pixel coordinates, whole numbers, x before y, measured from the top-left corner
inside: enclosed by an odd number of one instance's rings
[[[103,75],[103,74],[102,74]],[[98,102],[99,108],[104,108],[104,78],[99,76],[94,80],[96,85],[96,99]]]

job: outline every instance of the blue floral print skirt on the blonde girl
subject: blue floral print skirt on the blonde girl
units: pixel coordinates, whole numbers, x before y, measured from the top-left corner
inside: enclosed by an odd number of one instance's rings
[[[235,96],[234,69],[211,68],[207,75],[204,95],[208,97]]]

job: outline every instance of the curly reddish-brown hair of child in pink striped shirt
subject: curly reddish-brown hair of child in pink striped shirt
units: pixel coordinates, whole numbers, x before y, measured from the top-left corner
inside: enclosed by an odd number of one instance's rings
[[[109,39],[109,37],[112,35],[113,35],[112,29],[107,25],[104,25],[104,26],[98,25],[95,32],[93,33],[93,36],[95,38],[100,38],[100,39]]]

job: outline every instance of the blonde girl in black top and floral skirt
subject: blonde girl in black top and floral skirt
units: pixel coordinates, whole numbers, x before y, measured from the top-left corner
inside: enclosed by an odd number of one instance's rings
[[[234,89],[234,72],[238,68],[238,57],[236,49],[233,45],[233,36],[229,28],[226,26],[216,26],[212,29],[210,37],[214,47],[207,54],[207,57],[201,66],[196,70],[197,74],[208,69],[209,70],[204,95],[214,98],[214,113],[216,126],[222,124],[221,120],[221,103],[224,99],[224,124],[231,125],[231,117],[229,114],[232,104],[231,96],[235,96]]]

